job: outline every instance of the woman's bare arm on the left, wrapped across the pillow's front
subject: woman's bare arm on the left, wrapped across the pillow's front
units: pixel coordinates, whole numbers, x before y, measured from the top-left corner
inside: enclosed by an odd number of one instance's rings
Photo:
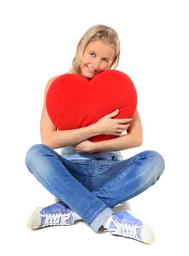
[[[51,148],[72,146],[96,135],[120,135],[128,128],[128,124],[125,123],[131,121],[131,119],[112,118],[118,113],[118,110],[115,110],[113,113],[101,118],[96,122],[96,124],[92,124],[88,127],[61,131],[58,130],[48,116],[45,103],[47,91],[53,80],[55,80],[55,78],[52,78],[47,83],[47,87],[45,89],[44,104],[40,121],[41,140],[45,145],[50,146]]]

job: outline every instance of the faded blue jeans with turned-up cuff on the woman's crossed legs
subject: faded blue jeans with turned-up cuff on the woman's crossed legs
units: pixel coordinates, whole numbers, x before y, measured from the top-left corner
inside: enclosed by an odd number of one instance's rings
[[[68,160],[39,144],[28,149],[26,166],[50,193],[97,231],[113,214],[114,206],[158,181],[164,160],[156,151],[143,151],[122,161]]]

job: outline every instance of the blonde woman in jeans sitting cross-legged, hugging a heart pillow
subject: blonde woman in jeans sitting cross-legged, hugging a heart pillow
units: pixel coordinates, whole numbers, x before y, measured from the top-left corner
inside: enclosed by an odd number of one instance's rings
[[[119,57],[116,31],[96,25],[80,39],[69,73],[93,79],[106,69],[115,69]],[[88,127],[59,130],[48,116],[45,103],[47,91],[56,78],[50,79],[45,89],[40,125],[42,144],[28,149],[26,166],[58,200],[37,208],[28,219],[28,227],[72,225],[82,219],[95,232],[104,227],[112,235],[151,244],[154,234],[147,222],[131,211],[114,212],[118,203],[155,184],[164,170],[163,157],[156,151],[143,151],[129,159],[121,155],[122,150],[142,145],[138,110],[132,119],[116,118],[119,110],[115,110]],[[117,137],[91,142],[89,139],[95,135]],[[56,148],[61,148],[60,154]]]

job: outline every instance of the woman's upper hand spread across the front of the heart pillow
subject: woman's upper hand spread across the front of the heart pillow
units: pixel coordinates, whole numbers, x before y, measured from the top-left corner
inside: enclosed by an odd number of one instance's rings
[[[118,113],[119,110],[115,110],[99,119],[95,124],[96,132],[98,132],[99,135],[122,135],[122,133],[128,129],[132,118],[114,118]]]

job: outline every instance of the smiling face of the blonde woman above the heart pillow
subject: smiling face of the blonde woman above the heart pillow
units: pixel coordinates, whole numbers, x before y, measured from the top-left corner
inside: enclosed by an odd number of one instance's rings
[[[80,64],[81,75],[93,78],[99,72],[109,69],[114,57],[115,49],[112,45],[102,40],[89,42]]]

